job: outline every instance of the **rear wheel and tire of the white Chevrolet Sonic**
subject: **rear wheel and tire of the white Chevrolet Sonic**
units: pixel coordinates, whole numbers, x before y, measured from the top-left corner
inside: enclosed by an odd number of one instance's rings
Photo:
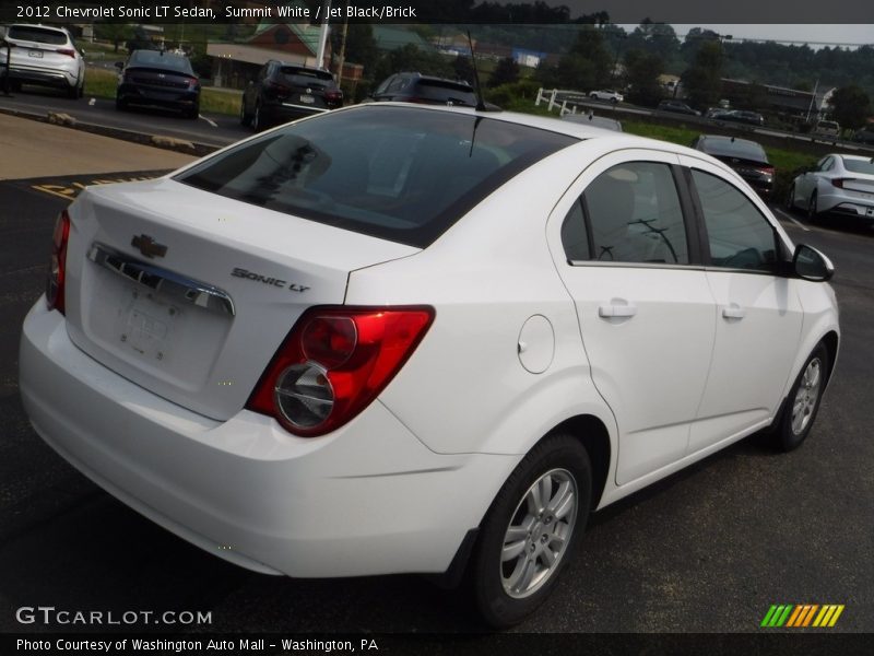
[[[592,488],[586,448],[571,435],[540,442],[492,503],[468,572],[480,616],[507,628],[555,588],[586,528]]]

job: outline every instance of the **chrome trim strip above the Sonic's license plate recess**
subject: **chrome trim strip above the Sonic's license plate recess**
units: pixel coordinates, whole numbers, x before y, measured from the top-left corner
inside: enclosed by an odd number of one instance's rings
[[[232,317],[236,315],[234,301],[224,290],[131,259],[105,244],[97,242],[92,244],[88,249],[88,259],[98,267],[160,292],[173,301],[189,303],[205,309],[216,309]]]

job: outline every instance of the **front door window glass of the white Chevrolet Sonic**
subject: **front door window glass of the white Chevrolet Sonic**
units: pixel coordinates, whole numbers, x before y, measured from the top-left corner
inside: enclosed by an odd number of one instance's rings
[[[746,196],[700,171],[692,178],[701,201],[710,260],[717,267],[772,271],[777,262],[771,224]]]

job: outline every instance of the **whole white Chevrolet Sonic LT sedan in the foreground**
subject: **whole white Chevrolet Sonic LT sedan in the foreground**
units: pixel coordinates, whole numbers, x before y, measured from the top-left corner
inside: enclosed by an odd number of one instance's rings
[[[36,432],[244,567],[471,584],[506,626],[593,509],[753,432],[811,432],[832,268],[708,155],[370,104],[58,219]]]

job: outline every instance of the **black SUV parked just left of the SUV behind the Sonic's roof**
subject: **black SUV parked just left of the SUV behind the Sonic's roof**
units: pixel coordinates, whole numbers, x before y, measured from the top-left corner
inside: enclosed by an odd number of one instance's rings
[[[256,131],[343,106],[343,92],[323,69],[268,61],[243,94],[239,120]]]

